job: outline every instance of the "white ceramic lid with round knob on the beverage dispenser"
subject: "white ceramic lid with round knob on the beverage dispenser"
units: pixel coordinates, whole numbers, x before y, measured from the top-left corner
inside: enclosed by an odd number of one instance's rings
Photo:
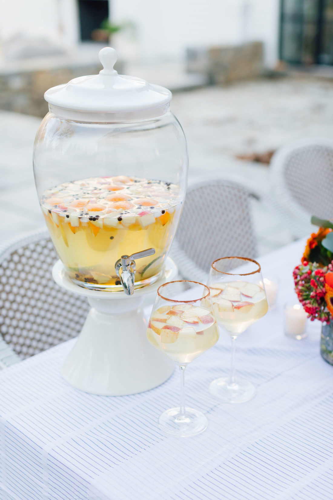
[[[114,48],[104,47],[98,56],[104,68],[99,74],[79,76],[49,88],[45,100],[57,108],[115,113],[159,108],[171,100],[172,93],[167,88],[118,74],[113,69],[117,60]]]

